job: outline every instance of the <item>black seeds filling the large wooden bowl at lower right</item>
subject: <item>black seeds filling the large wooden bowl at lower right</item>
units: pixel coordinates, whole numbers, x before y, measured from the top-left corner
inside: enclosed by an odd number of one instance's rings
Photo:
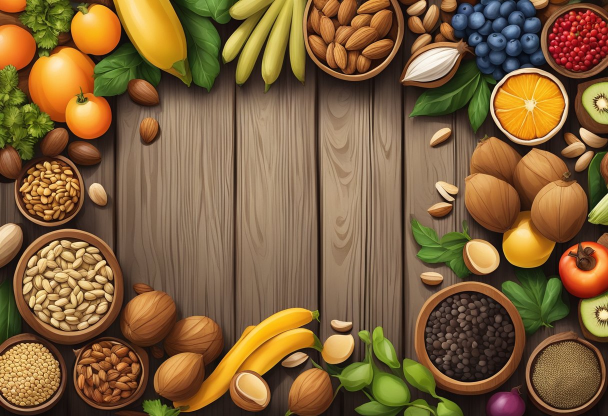
[[[459,381],[479,381],[505,366],[515,332],[500,303],[480,293],[447,297],[429,316],[426,352],[435,367]]]

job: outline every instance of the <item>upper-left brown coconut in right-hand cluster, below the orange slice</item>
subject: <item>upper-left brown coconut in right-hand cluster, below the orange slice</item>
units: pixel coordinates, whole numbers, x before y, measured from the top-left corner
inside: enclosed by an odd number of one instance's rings
[[[515,167],[522,159],[517,151],[496,137],[479,140],[471,156],[471,174],[485,173],[513,185]]]

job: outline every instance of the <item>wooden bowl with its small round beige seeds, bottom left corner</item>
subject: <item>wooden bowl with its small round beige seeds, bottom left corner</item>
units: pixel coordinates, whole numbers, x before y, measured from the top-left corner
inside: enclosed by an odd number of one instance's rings
[[[0,406],[12,414],[48,411],[63,396],[66,381],[66,363],[46,339],[19,334],[0,345]]]

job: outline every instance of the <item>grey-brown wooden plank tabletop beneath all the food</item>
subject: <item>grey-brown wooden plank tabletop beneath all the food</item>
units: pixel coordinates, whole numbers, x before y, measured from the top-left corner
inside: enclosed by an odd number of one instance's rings
[[[223,29],[224,39],[227,33]],[[140,107],[127,96],[113,100],[111,130],[92,140],[103,161],[81,168],[87,187],[93,182],[105,187],[108,205],[98,207],[87,198],[66,227],[92,232],[114,249],[125,276],[125,302],[134,296],[131,285],[136,282],[167,291],[180,317],[215,319],[223,328],[226,350],[247,325],[283,308],[304,307],[320,310],[320,324],[311,328],[321,339],[333,333],[331,319],[353,321],[355,336],[381,325],[398,355],[415,359],[413,328],[421,305],[460,279],[447,267],[416,258],[410,218],[440,235],[460,231],[461,221],[468,220],[472,237],[499,248],[501,236],[471,219],[462,192],[477,138],[505,137],[489,117],[474,134],[466,109],[444,117],[408,117],[421,89],[403,88],[398,80],[412,41],[408,33],[395,61],[374,80],[361,83],[336,80],[309,62],[302,86],[287,62],[280,79],[263,94],[259,64],[246,85],[238,87],[231,63],[210,93],[185,88],[164,74],[161,105]],[[573,99],[575,80],[562,80]],[[139,123],[148,116],[159,120],[161,135],[143,145]],[[452,128],[452,138],[430,148],[430,137],[443,127]],[[576,133],[578,127],[572,115],[562,132]],[[561,133],[541,146],[555,153],[564,147]],[[522,154],[528,150],[517,148]],[[575,177],[586,184],[586,173]],[[442,200],[437,181],[461,188],[453,212],[438,220],[426,212]],[[7,222],[22,226],[24,248],[50,231],[18,212],[12,183],[0,184],[0,224]],[[595,241],[604,231],[587,224],[578,240]],[[545,265],[548,274],[556,272],[566,246],[557,244]],[[497,287],[513,280],[512,266],[501,260],[491,276],[469,279]],[[12,278],[15,266],[16,260],[0,269],[0,280]],[[443,274],[441,286],[421,283],[420,273],[429,270]],[[503,389],[525,384],[523,368],[542,339],[579,331],[575,299],[571,303],[567,319],[528,338],[519,369]],[[117,322],[106,333],[121,336]],[[361,358],[361,342],[357,345]],[[69,367],[74,363],[71,348],[61,347]],[[601,348],[605,355],[608,348]],[[152,359],[153,370],[160,362]],[[289,387],[300,370],[279,366],[268,373],[272,400],[261,414],[285,414]],[[150,381],[144,398],[156,398],[151,386]],[[485,414],[490,394],[446,396],[465,415],[478,416]],[[359,393],[340,393],[327,414],[354,415],[363,400]],[[111,412],[88,407],[70,385],[47,414]],[[193,414],[245,412],[226,395]],[[526,414],[540,413],[528,403]],[[608,414],[608,397],[588,414]]]

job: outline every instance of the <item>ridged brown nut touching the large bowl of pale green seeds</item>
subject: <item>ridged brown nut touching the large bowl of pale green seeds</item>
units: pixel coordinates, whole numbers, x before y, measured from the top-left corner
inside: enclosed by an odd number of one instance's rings
[[[167,336],[177,317],[171,296],[159,290],[146,292],[126,304],[120,315],[120,330],[133,344],[149,347]]]

